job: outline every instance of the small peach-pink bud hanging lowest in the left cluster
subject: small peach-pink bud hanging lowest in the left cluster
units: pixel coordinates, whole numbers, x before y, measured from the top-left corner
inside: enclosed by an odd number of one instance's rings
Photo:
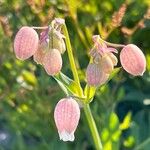
[[[51,49],[46,52],[43,58],[43,66],[49,75],[59,73],[62,68],[62,58],[60,52],[57,49]]]

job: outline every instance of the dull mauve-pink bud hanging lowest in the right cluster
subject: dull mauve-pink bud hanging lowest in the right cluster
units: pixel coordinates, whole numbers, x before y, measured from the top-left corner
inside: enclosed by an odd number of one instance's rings
[[[104,73],[100,68],[100,64],[89,64],[86,70],[87,83],[90,86],[98,86],[104,84],[108,80],[109,75]]]

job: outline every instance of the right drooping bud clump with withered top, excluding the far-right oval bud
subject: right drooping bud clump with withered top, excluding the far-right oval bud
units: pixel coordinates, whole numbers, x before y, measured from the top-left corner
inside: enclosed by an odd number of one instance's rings
[[[94,46],[90,51],[93,62],[90,63],[86,71],[87,83],[90,86],[100,86],[104,84],[109,75],[117,65],[117,57],[113,53],[117,50],[100,41],[99,35],[93,36]]]

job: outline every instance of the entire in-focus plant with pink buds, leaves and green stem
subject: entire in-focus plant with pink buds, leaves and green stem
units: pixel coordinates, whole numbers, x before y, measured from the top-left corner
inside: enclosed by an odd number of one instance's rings
[[[34,29],[44,30],[40,33],[40,38]],[[62,29],[63,34],[61,33]],[[89,106],[95,95],[95,90],[110,79],[109,77],[111,77],[114,67],[118,63],[115,56],[118,53],[116,48],[122,48],[120,52],[121,65],[126,72],[133,76],[143,75],[146,70],[146,58],[142,50],[134,44],[122,45],[106,42],[101,39],[100,35],[93,35],[92,40],[94,45],[89,53],[91,60],[86,70],[87,85],[84,92],[80,84],[78,67],[75,64],[64,19],[55,18],[49,26],[45,27],[23,26],[15,36],[14,52],[20,60],[33,57],[37,64],[44,67],[48,75],[55,78],[66,93],[67,97],[58,102],[54,115],[60,140],[74,141],[74,132],[80,119],[80,108],[76,102],[79,99],[80,102],[81,100],[83,102],[83,104],[79,103],[83,106],[95,148],[96,150],[102,150],[100,135]],[[59,73],[62,68],[61,54],[65,52],[66,47],[74,81],[63,75],[63,82],[61,82],[59,80]],[[73,88],[71,89],[70,86],[72,85]]]

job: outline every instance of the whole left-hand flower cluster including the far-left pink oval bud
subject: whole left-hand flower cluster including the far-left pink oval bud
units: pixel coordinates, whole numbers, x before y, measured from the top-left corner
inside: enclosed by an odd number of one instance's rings
[[[38,37],[32,27],[22,27],[16,34],[14,51],[16,57],[26,60],[33,56],[37,64],[41,64],[49,75],[55,75],[62,68],[62,57],[66,50],[61,33],[63,19],[56,18]],[[55,62],[55,63],[54,63]]]

